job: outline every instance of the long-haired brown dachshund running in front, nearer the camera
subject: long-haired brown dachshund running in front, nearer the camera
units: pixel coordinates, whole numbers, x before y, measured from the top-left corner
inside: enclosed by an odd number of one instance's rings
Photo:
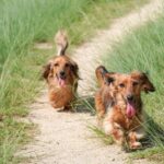
[[[128,142],[130,149],[140,148],[139,140],[145,136],[141,92],[154,92],[153,84],[145,73],[114,73],[103,66],[96,69],[96,77],[101,89],[95,106],[105,133],[121,145]]]

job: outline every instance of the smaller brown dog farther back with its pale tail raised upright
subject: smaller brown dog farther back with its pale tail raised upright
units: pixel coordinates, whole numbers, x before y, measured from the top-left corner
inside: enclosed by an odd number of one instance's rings
[[[55,37],[58,56],[45,67],[43,77],[48,83],[49,101],[54,108],[68,109],[75,98],[79,80],[78,65],[66,56],[68,39],[66,32],[58,32]]]

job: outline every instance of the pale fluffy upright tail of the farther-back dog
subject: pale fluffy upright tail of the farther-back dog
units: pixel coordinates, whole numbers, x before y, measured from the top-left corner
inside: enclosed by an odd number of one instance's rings
[[[66,31],[59,31],[55,36],[55,43],[57,46],[57,55],[65,56],[66,49],[68,48],[68,36]]]

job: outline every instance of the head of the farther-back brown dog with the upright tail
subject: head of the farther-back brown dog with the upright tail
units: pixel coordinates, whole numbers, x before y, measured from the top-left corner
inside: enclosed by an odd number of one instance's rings
[[[73,84],[79,79],[78,65],[67,56],[58,56],[51,59],[44,69],[43,77],[49,82],[58,83],[60,86]]]

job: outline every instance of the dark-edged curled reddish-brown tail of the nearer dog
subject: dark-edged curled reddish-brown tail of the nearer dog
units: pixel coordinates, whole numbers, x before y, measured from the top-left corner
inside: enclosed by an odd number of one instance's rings
[[[95,70],[95,74],[98,81],[98,84],[102,86],[104,84],[104,75],[108,73],[104,66],[98,66]]]

